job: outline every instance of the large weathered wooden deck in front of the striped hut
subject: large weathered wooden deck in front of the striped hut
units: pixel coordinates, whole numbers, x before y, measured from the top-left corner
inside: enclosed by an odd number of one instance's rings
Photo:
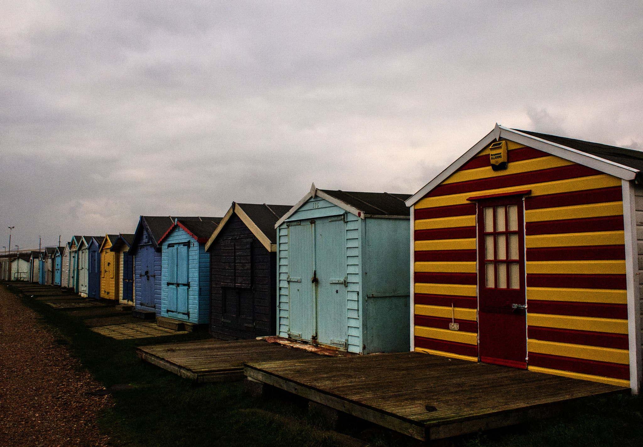
[[[303,398],[430,441],[550,416],[570,399],[629,389],[422,353],[246,362]]]

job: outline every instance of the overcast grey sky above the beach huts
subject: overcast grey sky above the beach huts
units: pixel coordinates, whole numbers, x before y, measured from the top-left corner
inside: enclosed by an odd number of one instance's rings
[[[3,0],[1,245],[415,193],[496,121],[643,149],[642,40],[637,1]]]

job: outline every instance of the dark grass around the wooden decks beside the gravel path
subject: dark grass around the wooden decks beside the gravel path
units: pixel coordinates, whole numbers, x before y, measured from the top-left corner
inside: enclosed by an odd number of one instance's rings
[[[17,288],[12,291],[19,294]],[[320,412],[307,411],[303,399],[288,394],[250,398],[242,382],[194,385],[142,362],[137,346],[197,340],[188,333],[138,340],[114,340],[89,330],[82,318],[24,297],[71,353],[105,387],[117,383],[133,389],[114,393],[116,405],[100,416],[102,431],[118,446],[336,446]],[[265,411],[257,411],[265,410]],[[269,413],[294,421],[284,423]],[[451,441],[462,447],[640,446],[643,445],[643,399],[613,395],[586,398],[563,408],[561,416],[466,435]],[[372,446],[408,447],[418,443],[353,417],[340,417],[339,432],[367,438]]]

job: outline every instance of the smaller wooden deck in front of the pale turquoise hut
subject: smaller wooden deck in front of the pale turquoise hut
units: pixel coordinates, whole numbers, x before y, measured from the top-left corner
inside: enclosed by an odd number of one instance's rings
[[[212,338],[196,342],[143,346],[136,349],[136,355],[146,362],[198,383],[242,380],[243,365],[246,362],[307,360],[320,357],[303,349],[265,340],[224,342]]]

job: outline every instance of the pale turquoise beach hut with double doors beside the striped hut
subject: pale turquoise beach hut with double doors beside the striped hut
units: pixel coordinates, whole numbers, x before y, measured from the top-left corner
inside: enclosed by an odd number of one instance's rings
[[[278,335],[353,353],[410,349],[409,197],[312,184],[275,225]]]

